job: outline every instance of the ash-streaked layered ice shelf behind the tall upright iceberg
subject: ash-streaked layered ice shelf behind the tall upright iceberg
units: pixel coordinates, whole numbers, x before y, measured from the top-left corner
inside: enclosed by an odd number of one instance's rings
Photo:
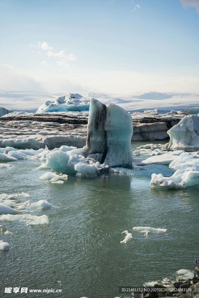
[[[81,148],[86,145],[88,112],[73,114],[50,112],[0,117],[0,147],[40,149],[47,146],[54,149],[67,145]],[[167,131],[178,124],[185,114],[165,116],[150,113],[146,117],[146,113],[133,113],[131,116],[132,140],[159,141],[169,139]],[[103,118],[103,113],[99,117]]]

